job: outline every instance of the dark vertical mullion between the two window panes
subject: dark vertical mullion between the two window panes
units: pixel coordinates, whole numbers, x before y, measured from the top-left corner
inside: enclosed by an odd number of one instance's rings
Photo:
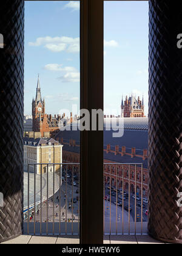
[[[80,2],[80,107],[89,112],[92,109],[103,110],[104,1],[123,0],[73,1]],[[102,171],[98,172],[98,169],[103,170],[103,131],[83,131],[80,135],[80,243],[103,244],[104,175]]]

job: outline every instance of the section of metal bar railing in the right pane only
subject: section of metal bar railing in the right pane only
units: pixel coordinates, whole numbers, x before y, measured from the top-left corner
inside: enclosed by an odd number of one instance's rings
[[[124,175],[124,172],[127,174]],[[140,180],[136,179],[138,172]],[[118,180],[121,183],[118,184]],[[134,191],[131,191],[130,185],[133,183]],[[137,187],[141,193],[136,190]],[[143,163],[104,163],[103,191],[104,235],[147,233],[148,212],[147,199],[143,197]]]

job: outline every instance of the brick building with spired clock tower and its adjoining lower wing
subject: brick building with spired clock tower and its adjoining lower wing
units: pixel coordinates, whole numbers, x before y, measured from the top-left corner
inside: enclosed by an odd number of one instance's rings
[[[36,87],[36,98],[32,101],[32,130],[33,132],[41,132],[44,137],[44,132],[50,132],[50,135],[59,131],[59,121],[61,115],[47,115],[45,113],[45,99],[41,98],[41,87],[38,77]]]

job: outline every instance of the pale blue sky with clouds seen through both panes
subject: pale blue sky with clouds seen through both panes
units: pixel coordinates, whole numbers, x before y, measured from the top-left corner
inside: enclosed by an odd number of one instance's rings
[[[104,4],[104,109],[120,113],[121,97],[144,94],[147,114],[148,3]],[[46,113],[79,108],[79,2],[25,1],[25,114],[40,77]],[[113,111],[112,111],[113,109]]]

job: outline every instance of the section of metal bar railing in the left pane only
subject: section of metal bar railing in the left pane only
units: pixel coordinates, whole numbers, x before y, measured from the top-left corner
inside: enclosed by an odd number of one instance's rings
[[[79,235],[79,163],[28,165],[24,233]]]

